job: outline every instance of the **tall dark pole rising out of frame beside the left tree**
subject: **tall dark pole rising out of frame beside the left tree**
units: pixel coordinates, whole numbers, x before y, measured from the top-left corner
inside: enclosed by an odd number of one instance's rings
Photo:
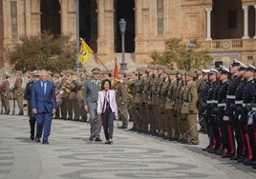
[[[76,0],[76,55],[75,55],[75,70],[79,74],[81,64],[78,60],[79,55],[79,0]],[[79,75],[80,76],[80,75]]]

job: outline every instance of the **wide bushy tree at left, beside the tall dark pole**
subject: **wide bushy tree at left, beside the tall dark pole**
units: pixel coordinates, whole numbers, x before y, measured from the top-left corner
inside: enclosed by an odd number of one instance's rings
[[[61,70],[75,67],[75,42],[71,36],[42,33],[22,36],[20,42],[14,42],[9,50],[9,59],[14,70]]]

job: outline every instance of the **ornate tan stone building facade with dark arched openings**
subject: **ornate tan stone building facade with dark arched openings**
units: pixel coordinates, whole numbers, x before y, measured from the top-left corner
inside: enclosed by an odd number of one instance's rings
[[[48,30],[79,36],[104,61],[121,52],[118,22],[126,21],[125,52],[138,64],[150,62],[164,41],[197,39],[216,60],[255,64],[256,0],[0,0],[0,67],[9,67],[4,49],[21,35]]]

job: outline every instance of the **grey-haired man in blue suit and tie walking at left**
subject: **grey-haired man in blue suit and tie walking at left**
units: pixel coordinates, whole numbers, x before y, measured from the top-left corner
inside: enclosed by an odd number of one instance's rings
[[[32,113],[36,119],[35,141],[40,142],[43,134],[43,144],[49,144],[48,137],[51,132],[53,114],[56,111],[56,98],[53,82],[48,81],[46,70],[40,73],[40,80],[32,85]]]

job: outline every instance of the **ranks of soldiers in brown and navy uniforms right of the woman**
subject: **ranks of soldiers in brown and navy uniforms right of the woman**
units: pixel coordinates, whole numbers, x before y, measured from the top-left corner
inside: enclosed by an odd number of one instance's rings
[[[139,68],[124,81],[134,97],[131,130],[197,145],[200,123],[209,138],[204,151],[256,169],[255,73],[238,60],[207,70]]]

